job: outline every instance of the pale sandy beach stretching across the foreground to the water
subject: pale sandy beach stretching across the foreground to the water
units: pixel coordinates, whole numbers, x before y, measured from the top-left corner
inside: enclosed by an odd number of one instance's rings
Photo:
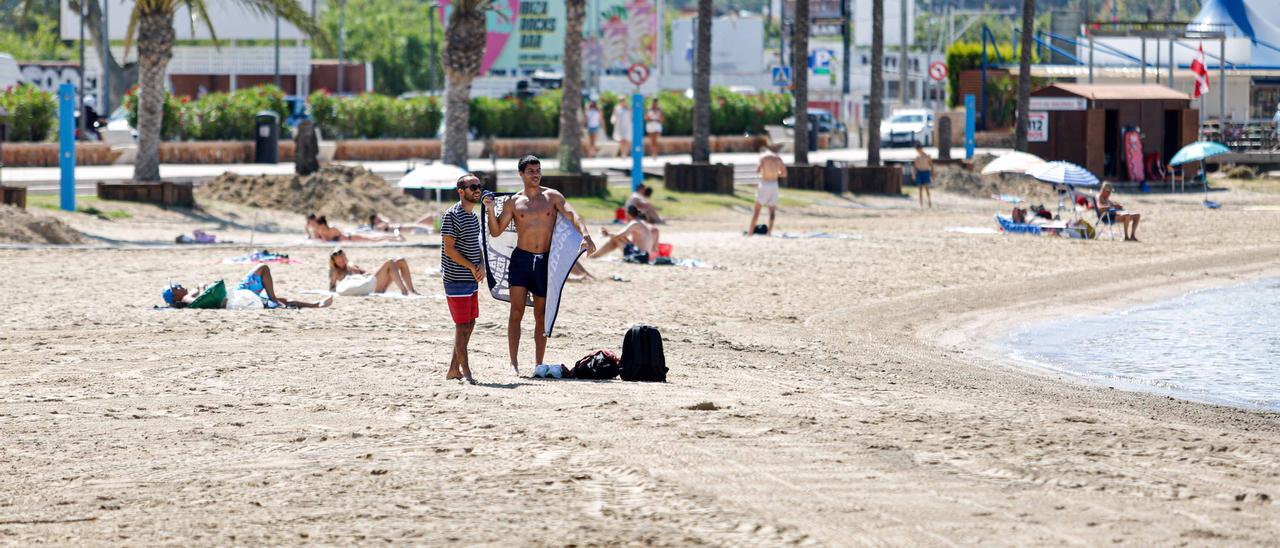
[[[946,192],[932,211],[781,211],[780,230],[858,238],[676,220],[676,255],[717,268],[588,261],[604,280],[566,289],[548,351],[617,351],[649,323],[667,384],[515,378],[488,297],[477,387],[444,380],[435,297],[151,310],[170,278],[238,277],[218,261],[247,248],[0,250],[0,543],[1274,545],[1280,415],[1029,369],[991,342],[1274,275],[1260,228],[1280,216],[1245,207],[1280,195],[1215,198],[1117,197],[1143,243],[948,233],[993,205]],[[287,252],[305,262],[273,269],[282,293],[325,284],[325,250]]]

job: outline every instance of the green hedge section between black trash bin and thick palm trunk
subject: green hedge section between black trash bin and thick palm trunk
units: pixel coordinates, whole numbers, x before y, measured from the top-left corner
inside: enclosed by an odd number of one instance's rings
[[[338,97],[317,91],[307,102],[325,138],[431,138],[443,118],[439,97],[393,99],[378,93]]]

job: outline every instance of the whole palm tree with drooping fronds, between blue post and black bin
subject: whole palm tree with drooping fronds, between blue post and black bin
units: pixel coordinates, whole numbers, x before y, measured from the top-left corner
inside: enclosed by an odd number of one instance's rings
[[[241,5],[260,15],[275,17],[293,23],[311,36],[320,36],[315,23],[298,0],[238,0]],[[187,8],[191,24],[204,20],[209,35],[218,44],[218,35],[209,20],[207,0],[137,0],[129,14],[129,28],[124,38],[125,51],[138,45],[138,157],[133,164],[133,181],[160,181],[160,124],[164,119],[164,74],[173,56],[177,33],[173,17],[178,8]],[[323,40],[323,37],[321,37]]]

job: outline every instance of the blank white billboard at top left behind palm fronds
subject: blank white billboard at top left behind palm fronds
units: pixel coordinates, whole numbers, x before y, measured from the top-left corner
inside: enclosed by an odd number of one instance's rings
[[[129,28],[129,14],[134,0],[99,0],[109,4],[108,28],[111,40],[124,40]],[[218,40],[271,40],[275,37],[275,18],[246,9],[237,1],[206,1],[209,20],[212,23]],[[61,0],[63,40],[79,40],[79,13],[73,10],[67,0]],[[180,4],[173,15],[173,29],[178,40],[211,40],[204,22],[192,24],[191,12]],[[87,35],[86,35],[87,36]],[[285,20],[280,20],[280,40],[306,40],[306,35]]]

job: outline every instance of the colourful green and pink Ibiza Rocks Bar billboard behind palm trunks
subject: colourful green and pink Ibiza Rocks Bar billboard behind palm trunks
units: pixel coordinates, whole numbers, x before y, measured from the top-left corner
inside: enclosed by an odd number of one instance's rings
[[[443,0],[440,23],[452,6]],[[564,0],[498,0],[488,14],[481,74],[508,74],[564,65]],[[623,72],[632,64],[657,67],[658,6],[654,0],[588,0],[582,55],[591,67]]]

